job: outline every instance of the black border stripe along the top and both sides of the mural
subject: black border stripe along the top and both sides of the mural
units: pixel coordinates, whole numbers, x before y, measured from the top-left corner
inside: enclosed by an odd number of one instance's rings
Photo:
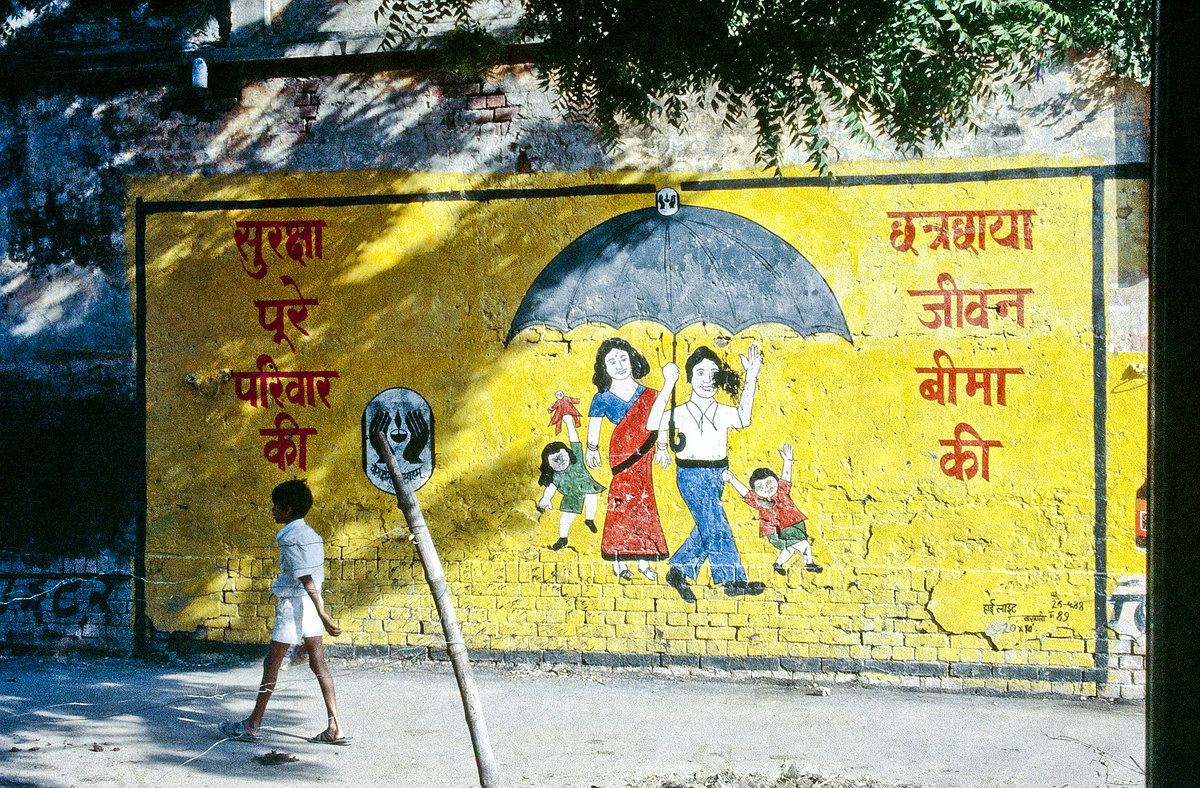
[[[1080,167],[1026,167],[1012,169],[970,170],[961,173],[900,173],[889,175],[846,175],[834,180],[823,178],[752,178],[704,179],[682,182],[684,192],[743,191],[764,188],[846,188],[854,186],[918,186],[930,184],[965,184],[1010,180],[1044,180],[1056,178],[1092,179],[1092,375],[1093,375],[1093,462],[1094,462],[1094,669],[1086,680],[1104,684],[1108,676],[1108,555],[1105,552],[1108,509],[1106,417],[1108,417],[1108,323],[1104,281],[1104,182],[1109,180],[1148,179],[1147,162]],[[668,173],[660,174],[670,180]],[[653,194],[650,184],[595,184],[560,188],[496,188],[458,190],[445,192],[409,192],[397,194],[355,194],[343,197],[263,198],[250,200],[143,200],[134,204],[134,277],[136,277],[136,360],[137,404],[142,410],[140,474],[146,480],[146,281],[145,234],[146,217],[160,213],[194,213],[238,210],[282,210],[304,207],[353,207],[367,205],[403,205],[412,203],[466,201],[487,203],[509,199],[554,199],[612,194]],[[134,552],[134,648],[144,651],[149,619],[145,610],[145,545],[146,545],[146,486],[140,485],[137,516],[137,546]]]

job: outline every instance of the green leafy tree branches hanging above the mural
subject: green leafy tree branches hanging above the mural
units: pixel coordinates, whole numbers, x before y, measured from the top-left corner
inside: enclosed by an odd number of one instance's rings
[[[382,0],[378,18],[403,46],[439,19],[469,26],[470,8]],[[1072,46],[1148,76],[1150,19],[1150,0],[523,0],[521,30],[560,106],[606,146],[622,121],[682,128],[707,107],[726,126],[750,119],[763,166],[798,149],[829,175],[832,127],[919,155]]]

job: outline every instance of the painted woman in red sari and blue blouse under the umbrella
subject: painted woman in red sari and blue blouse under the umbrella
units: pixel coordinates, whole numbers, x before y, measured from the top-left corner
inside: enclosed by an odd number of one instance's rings
[[[652,479],[658,432],[646,428],[658,391],[637,383],[649,371],[646,357],[622,338],[605,339],[596,350],[592,375],[596,395],[588,410],[588,446],[583,457],[588,468],[600,465],[600,426],[605,419],[613,422],[608,440],[612,483],[600,554],[612,561],[612,571],[623,581],[634,579],[626,560],[636,560],[638,571],[656,581],[659,576],[650,561],[667,557]],[[659,464],[670,465],[671,456],[661,452]]]

